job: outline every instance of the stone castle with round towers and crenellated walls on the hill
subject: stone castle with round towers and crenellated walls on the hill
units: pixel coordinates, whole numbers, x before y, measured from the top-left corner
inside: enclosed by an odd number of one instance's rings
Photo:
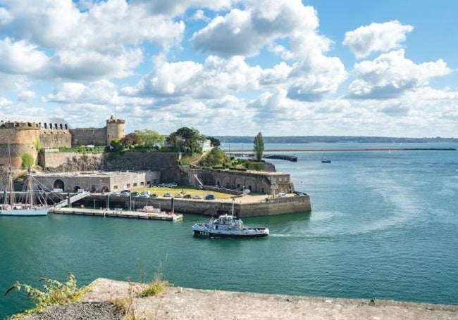
[[[19,169],[25,153],[36,161],[40,148],[107,146],[124,137],[124,123],[112,115],[103,128],[71,129],[58,117],[0,117],[0,168],[8,167],[11,159],[11,167]]]

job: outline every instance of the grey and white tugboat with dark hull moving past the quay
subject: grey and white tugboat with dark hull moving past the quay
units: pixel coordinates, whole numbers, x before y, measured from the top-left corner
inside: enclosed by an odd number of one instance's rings
[[[192,226],[195,236],[207,238],[258,238],[268,236],[266,227],[248,227],[241,219],[234,217],[234,203],[232,215],[220,215],[218,219]]]

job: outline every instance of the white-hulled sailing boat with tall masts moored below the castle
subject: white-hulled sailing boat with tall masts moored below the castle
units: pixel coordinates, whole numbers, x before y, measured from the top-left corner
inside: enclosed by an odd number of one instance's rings
[[[9,153],[9,145],[8,145]],[[6,188],[3,195],[3,203],[0,204],[0,215],[12,215],[12,216],[43,216],[47,215],[49,206],[46,203],[46,198],[41,199],[42,203],[39,203],[39,199],[35,197],[33,191],[33,177],[32,171],[28,169],[27,174],[27,189],[23,192],[25,195],[24,202],[18,202],[16,198],[16,192],[13,190],[13,174],[11,171],[11,156],[8,167],[8,179],[6,179]],[[46,196],[46,193],[44,194]]]

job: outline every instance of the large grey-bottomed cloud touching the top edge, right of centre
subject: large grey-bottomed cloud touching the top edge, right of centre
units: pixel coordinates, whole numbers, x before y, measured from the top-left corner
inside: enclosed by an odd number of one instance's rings
[[[220,56],[251,56],[271,41],[315,30],[314,8],[299,0],[246,1],[246,8],[218,15],[192,36],[194,47]]]

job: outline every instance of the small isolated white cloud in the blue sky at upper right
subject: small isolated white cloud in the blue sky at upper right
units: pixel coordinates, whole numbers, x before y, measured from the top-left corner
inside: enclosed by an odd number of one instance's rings
[[[357,58],[366,58],[376,51],[397,49],[405,41],[406,34],[414,30],[411,25],[401,25],[397,20],[388,23],[371,23],[356,30],[345,32],[343,44]]]

